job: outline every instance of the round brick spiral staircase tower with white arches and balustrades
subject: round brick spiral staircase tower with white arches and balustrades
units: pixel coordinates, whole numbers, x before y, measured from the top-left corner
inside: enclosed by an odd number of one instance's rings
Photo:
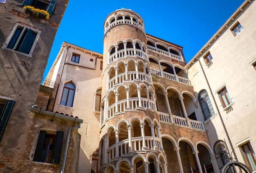
[[[99,171],[166,172],[142,18],[112,12],[103,44]]]

